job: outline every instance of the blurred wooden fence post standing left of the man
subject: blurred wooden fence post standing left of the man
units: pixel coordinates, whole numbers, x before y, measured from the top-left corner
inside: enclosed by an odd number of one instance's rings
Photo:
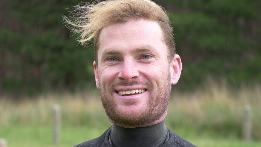
[[[54,137],[54,144],[57,146],[60,140],[60,129],[61,129],[61,108],[59,104],[55,104],[53,106],[53,113],[54,113],[54,128],[53,128],[53,137]]]

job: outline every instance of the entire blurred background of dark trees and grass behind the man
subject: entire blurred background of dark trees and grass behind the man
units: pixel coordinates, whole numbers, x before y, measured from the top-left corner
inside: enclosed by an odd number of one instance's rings
[[[78,45],[62,23],[80,2],[0,1],[0,138],[10,147],[55,146],[54,104],[59,146],[112,125],[95,86],[94,47]],[[198,146],[261,146],[261,1],[155,2],[169,12],[183,63],[167,127]]]

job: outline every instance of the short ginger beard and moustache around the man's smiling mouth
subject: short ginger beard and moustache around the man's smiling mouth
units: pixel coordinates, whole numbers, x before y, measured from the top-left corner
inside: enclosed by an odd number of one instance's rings
[[[150,92],[150,98],[147,100],[147,103],[144,104],[147,106],[139,111],[131,113],[119,109],[117,107],[117,102],[113,97],[113,93],[115,92],[114,87],[116,85],[138,85],[140,83],[146,85],[147,92]],[[167,115],[168,102],[171,92],[170,71],[168,70],[165,74],[163,73],[162,80],[155,83],[158,84],[157,89],[153,89],[153,84],[151,82],[144,82],[140,80],[133,80],[128,83],[111,83],[110,86],[106,87],[107,91],[111,94],[108,95],[105,92],[105,87],[102,87],[102,83],[99,82],[101,102],[109,120],[116,125],[132,128],[147,126],[147,124],[156,122],[162,117],[165,118]],[[137,101],[135,100],[128,101],[125,102],[125,105],[135,105],[136,102]]]

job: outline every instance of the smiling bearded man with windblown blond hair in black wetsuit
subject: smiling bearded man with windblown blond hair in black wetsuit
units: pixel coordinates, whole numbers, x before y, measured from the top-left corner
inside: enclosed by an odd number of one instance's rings
[[[164,125],[182,64],[164,10],[150,0],[78,5],[65,18],[85,44],[94,38],[94,73],[108,119],[104,134],[76,147],[191,147]]]

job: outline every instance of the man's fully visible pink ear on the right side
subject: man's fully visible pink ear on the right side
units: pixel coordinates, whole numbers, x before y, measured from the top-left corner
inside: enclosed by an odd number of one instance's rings
[[[170,63],[170,76],[171,83],[173,85],[177,84],[180,79],[180,74],[182,70],[182,63],[179,55],[174,55],[172,62]]]

